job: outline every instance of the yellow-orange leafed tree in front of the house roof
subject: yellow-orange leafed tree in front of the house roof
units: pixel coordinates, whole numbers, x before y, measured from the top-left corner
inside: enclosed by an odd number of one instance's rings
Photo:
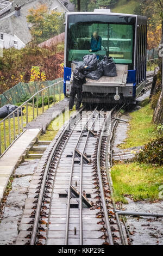
[[[31,34],[34,42],[40,43],[58,34],[61,14],[56,11],[48,13],[46,5],[30,9],[27,21],[32,24]]]

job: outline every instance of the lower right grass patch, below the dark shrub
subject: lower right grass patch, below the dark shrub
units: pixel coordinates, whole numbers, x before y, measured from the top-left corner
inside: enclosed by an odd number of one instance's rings
[[[125,197],[133,200],[159,200],[159,186],[163,184],[163,166],[152,164],[118,164],[112,167],[111,176],[116,202],[127,203]]]

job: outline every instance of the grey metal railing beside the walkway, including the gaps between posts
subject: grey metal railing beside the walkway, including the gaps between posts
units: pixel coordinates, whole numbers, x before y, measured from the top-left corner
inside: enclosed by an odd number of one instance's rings
[[[15,111],[0,121],[0,155],[5,153],[12,143],[24,132],[26,125],[49,108],[51,103],[60,101],[63,80],[36,92]],[[58,99],[57,99],[58,97]],[[30,103],[31,102],[31,103]],[[40,107],[39,107],[40,106]]]

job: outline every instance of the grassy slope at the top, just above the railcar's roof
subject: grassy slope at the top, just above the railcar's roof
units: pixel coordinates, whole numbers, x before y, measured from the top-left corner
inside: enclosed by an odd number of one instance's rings
[[[116,7],[111,9],[111,12],[133,14],[133,11],[137,5],[139,5],[139,1],[119,0],[118,3],[116,4]]]

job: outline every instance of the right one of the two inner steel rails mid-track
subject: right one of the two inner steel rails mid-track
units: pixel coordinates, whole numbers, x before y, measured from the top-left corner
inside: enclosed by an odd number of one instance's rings
[[[83,198],[82,198],[82,190],[83,190],[83,188],[82,188],[82,185],[83,185],[83,155],[84,155],[84,151],[85,151],[85,148],[86,148],[87,140],[88,140],[89,135],[90,135],[90,130],[92,129],[92,127],[95,124],[97,118],[101,114],[100,112],[96,115],[95,120],[93,120],[93,123],[92,123],[91,127],[87,131],[87,136],[86,136],[86,139],[85,139],[84,148],[83,148],[83,151],[82,151],[82,155],[80,157],[80,189],[79,189],[80,245],[83,245],[83,216],[82,216],[82,212],[83,212]]]

